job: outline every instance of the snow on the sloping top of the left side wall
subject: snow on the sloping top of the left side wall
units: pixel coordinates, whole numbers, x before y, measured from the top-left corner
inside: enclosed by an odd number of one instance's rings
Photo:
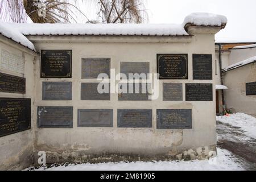
[[[22,35],[19,30],[10,26],[9,23],[0,22],[0,34],[13,40],[16,43],[21,44],[24,47],[30,48],[31,50],[35,51],[35,46],[32,44],[26,36]]]

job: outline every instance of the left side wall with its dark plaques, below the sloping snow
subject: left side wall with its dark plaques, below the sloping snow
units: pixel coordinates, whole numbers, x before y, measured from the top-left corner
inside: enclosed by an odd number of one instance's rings
[[[0,37],[0,170],[20,170],[34,162],[29,113],[34,112],[30,105],[34,102],[35,55]]]

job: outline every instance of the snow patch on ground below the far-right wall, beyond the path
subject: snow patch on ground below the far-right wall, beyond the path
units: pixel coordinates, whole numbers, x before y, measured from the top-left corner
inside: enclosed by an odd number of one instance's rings
[[[217,121],[228,123],[234,127],[240,127],[245,131],[245,134],[256,139],[256,118],[244,113],[230,114],[229,116],[222,115],[216,117]]]

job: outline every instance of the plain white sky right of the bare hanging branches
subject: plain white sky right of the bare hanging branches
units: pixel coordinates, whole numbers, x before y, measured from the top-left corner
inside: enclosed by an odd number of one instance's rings
[[[182,23],[195,12],[225,15],[228,24],[217,42],[256,42],[256,0],[146,0],[149,23]]]

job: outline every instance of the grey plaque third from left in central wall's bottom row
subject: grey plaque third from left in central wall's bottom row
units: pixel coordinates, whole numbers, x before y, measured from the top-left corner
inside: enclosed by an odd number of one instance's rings
[[[117,127],[152,127],[152,110],[118,109]]]

